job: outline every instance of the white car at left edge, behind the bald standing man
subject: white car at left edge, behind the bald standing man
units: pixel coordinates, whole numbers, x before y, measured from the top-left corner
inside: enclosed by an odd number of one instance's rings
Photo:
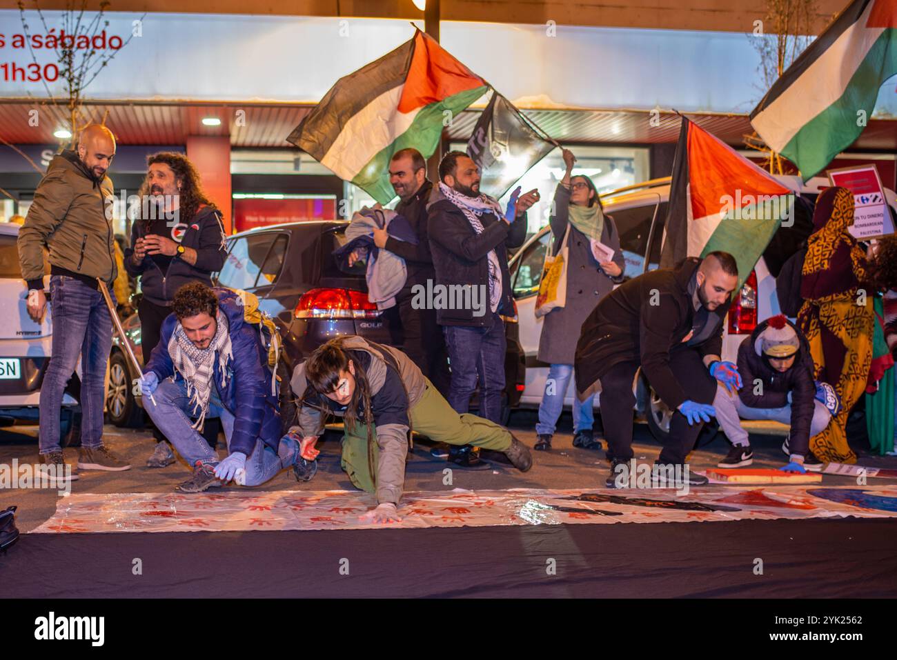
[[[28,314],[28,284],[22,280],[16,239],[19,225],[0,223],[0,300],[6,300],[0,315],[0,426],[16,422],[39,421],[40,386],[50,359],[52,303],[42,323]],[[45,263],[48,264],[45,259]],[[49,265],[44,275],[48,289]],[[80,365],[79,365],[80,371]],[[65,447],[80,441],[81,379],[76,372],[62,402],[60,444]]]

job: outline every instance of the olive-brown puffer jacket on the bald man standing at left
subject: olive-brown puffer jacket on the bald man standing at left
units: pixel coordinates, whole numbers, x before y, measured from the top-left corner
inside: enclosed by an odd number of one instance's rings
[[[29,289],[43,289],[43,247],[53,274],[96,286],[118,275],[112,228],[112,180],[94,178],[78,154],[66,150],[50,161],[19,230],[19,263]]]

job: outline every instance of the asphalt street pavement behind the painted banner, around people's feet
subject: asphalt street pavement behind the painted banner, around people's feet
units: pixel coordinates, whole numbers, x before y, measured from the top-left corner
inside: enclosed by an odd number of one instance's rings
[[[514,412],[509,429],[527,444],[536,443],[536,412]],[[154,440],[149,430],[118,429],[107,424],[104,441],[118,455],[126,458],[133,467],[125,472],[79,471],[81,478],[73,482],[72,491],[91,493],[115,492],[170,492],[187,479],[189,470],[183,461],[161,469],[146,467],[146,458],[152,453]],[[0,464],[11,465],[18,459],[19,465],[38,461],[38,429],[36,426],[14,426],[0,429]],[[353,490],[345,473],[340,469],[340,435],[328,430],[318,442],[321,455],[318,458],[318,474],[310,482],[296,482],[291,470],[277,474],[270,482],[258,486],[263,491],[330,491]],[[702,436],[706,442],[709,436]],[[490,455],[481,468],[462,468],[448,464],[444,459],[431,456],[431,444],[417,441],[409,453],[405,470],[406,491],[440,491],[442,489],[577,489],[604,488],[608,464],[603,450],[580,449],[572,446],[570,413],[565,412],[555,433],[551,451],[534,452],[534,465],[527,473],[519,473],[501,460],[502,456]],[[781,453],[780,435],[751,435],[754,450],[753,467],[780,467],[785,463]],[[660,451],[659,443],[651,436],[647,425],[635,425],[635,455],[640,460],[652,461]],[[716,466],[726,455],[728,442],[718,434],[708,444],[692,452],[692,469],[703,470]],[[224,456],[224,437],[219,438],[219,453]],[[492,460],[497,458],[498,460]],[[77,461],[77,449],[65,449],[69,463]],[[861,456],[863,465],[897,468],[897,458],[892,456]],[[451,468],[450,484],[447,484],[445,468]],[[849,485],[855,482],[847,477],[825,475],[828,485]],[[879,482],[875,480],[875,482]],[[881,483],[884,483],[882,481]],[[713,485],[706,488],[713,488]],[[228,486],[226,488],[239,488]],[[51,517],[57,507],[59,495],[56,489],[0,490],[0,509],[18,506],[16,521],[22,532],[34,529]]]

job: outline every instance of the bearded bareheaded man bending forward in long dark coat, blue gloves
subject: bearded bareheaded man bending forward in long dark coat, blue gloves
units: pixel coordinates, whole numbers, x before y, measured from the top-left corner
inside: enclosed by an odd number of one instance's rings
[[[576,386],[584,393],[601,381],[601,419],[611,458],[608,488],[617,485],[633,456],[632,389],[639,367],[675,411],[660,465],[684,465],[703,422],[714,414],[710,404],[717,380],[741,385],[735,365],[719,357],[723,322],[737,283],[734,256],[711,252],[703,259],[689,257],[675,268],[623,283],[582,324]],[[688,482],[701,485],[707,478],[689,473]]]

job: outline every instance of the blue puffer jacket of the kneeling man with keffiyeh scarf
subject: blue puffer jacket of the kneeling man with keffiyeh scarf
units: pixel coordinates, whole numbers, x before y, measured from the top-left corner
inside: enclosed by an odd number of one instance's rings
[[[243,319],[243,306],[239,296],[230,289],[215,287],[218,308],[228,320],[233,357],[227,364],[222,386],[221,365],[215,358],[213,381],[224,408],[233,417],[231,453],[252,454],[256,440],[261,439],[277,451],[281,438],[280,408],[277,396],[271,393],[271,369],[268,368],[268,352],[258,334],[258,327]],[[154,371],[159,380],[175,373],[168,345],[178,326],[178,318],[170,314],[162,321],[161,339],[144,367],[144,373]]]

